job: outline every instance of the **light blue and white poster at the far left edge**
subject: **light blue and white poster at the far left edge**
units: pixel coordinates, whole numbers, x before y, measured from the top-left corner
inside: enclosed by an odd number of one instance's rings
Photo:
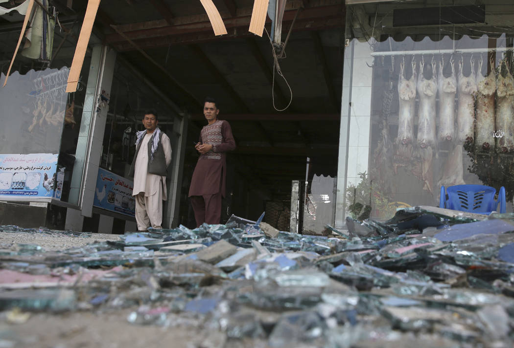
[[[0,199],[53,197],[57,154],[0,154]]]

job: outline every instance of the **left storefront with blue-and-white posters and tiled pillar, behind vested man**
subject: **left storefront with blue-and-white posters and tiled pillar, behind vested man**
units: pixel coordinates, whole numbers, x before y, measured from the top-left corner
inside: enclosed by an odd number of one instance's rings
[[[148,109],[157,110],[159,126],[172,141],[163,225],[176,223],[181,134],[187,130],[183,114],[95,35],[78,89],[66,93],[67,64],[74,51],[66,52],[67,56],[38,66],[22,57],[21,73],[11,73],[0,90],[2,224],[102,233],[135,230],[127,173],[134,134],[143,128]]]

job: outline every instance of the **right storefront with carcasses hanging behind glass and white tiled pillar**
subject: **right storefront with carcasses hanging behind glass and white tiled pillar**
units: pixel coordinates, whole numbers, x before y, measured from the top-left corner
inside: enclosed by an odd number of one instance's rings
[[[346,3],[336,226],[436,206],[441,186],[511,202],[511,3]]]

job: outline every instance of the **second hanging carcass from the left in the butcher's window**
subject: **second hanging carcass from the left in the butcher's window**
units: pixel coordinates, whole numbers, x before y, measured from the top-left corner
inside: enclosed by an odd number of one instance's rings
[[[418,131],[417,145],[421,157],[421,176],[423,189],[433,192],[433,157],[436,147],[435,139],[435,96],[437,93],[437,78],[435,62],[432,61],[432,77],[425,78],[425,62],[421,60],[417,79],[417,92],[419,95],[418,106]]]

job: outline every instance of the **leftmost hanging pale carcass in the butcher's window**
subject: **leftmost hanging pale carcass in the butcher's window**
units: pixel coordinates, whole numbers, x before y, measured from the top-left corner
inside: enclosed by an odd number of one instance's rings
[[[400,63],[398,78],[398,136],[396,137],[396,162],[406,165],[412,160],[414,141],[414,101],[416,99],[416,63],[412,61],[412,76],[405,77],[405,64]],[[396,167],[395,167],[396,168]]]

